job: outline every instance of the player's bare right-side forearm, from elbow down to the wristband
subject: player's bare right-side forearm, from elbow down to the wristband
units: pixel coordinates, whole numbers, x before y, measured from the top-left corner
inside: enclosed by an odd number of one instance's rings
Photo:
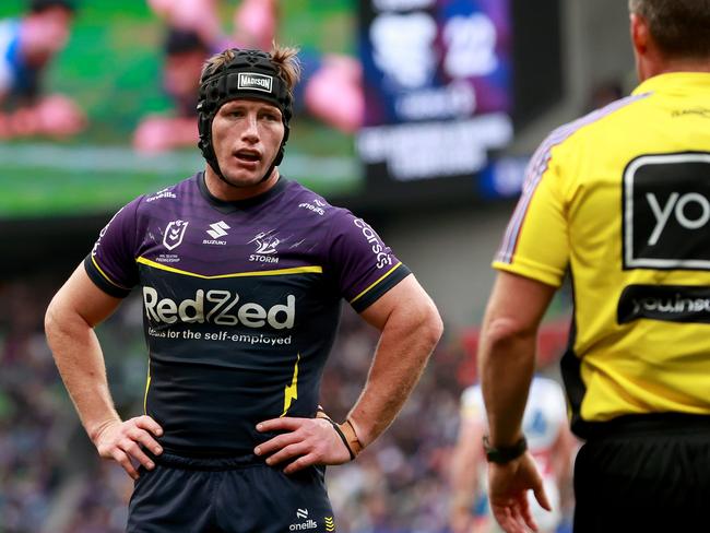
[[[411,311],[389,318],[363,393],[348,415],[363,446],[392,423],[441,336],[441,319],[434,305]]]

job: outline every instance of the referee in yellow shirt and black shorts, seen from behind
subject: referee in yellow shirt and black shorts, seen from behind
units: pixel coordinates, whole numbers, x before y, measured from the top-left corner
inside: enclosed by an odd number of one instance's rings
[[[563,377],[575,532],[698,531],[710,496],[710,0],[631,0],[641,84],[555,130],[494,266],[481,376],[493,511],[549,507],[521,418],[540,321],[569,269]]]

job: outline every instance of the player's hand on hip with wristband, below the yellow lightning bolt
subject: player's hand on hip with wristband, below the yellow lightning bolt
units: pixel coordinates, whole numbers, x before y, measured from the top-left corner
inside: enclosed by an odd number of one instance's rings
[[[313,464],[343,464],[351,460],[343,440],[324,418],[272,418],[257,424],[257,430],[286,431],[255,448],[273,466],[289,461],[284,473],[293,474]]]

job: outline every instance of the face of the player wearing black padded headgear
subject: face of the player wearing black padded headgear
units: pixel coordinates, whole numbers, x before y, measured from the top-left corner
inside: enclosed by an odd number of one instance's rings
[[[283,138],[281,111],[263,100],[227,102],[212,121],[212,144],[220,169],[235,187],[261,182]]]

